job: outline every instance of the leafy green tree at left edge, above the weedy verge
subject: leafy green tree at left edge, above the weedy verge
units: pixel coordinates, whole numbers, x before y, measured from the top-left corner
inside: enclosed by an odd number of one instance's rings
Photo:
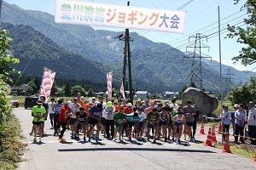
[[[9,73],[13,72],[14,69],[10,65],[20,62],[19,59],[15,59],[13,54],[10,54],[11,46],[9,42],[12,42],[12,39],[7,37],[8,33],[7,30],[0,31],[0,124],[4,123],[4,117],[10,118],[12,111],[6,85],[7,81],[12,82]],[[2,130],[3,128],[0,131]]]

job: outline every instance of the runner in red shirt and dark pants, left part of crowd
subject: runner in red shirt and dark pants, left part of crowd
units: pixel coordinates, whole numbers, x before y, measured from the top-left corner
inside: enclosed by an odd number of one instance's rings
[[[67,116],[69,116],[70,114],[71,114],[71,109],[68,107],[68,104],[66,102],[66,104],[61,107],[61,112],[59,115],[58,128],[62,127],[61,134],[59,136],[60,142],[65,141],[65,139],[63,139],[63,134],[66,131]]]

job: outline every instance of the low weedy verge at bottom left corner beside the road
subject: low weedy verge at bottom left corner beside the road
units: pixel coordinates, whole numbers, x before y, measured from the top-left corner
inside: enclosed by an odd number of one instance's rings
[[[15,169],[22,161],[26,144],[20,142],[20,122],[13,114],[0,125],[0,169]]]

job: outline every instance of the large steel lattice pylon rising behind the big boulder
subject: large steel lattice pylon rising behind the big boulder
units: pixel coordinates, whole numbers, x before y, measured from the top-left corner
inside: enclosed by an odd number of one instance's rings
[[[207,45],[204,45],[201,43],[201,39],[207,38],[206,36],[201,36],[200,33],[196,33],[195,37],[189,37],[189,42],[190,38],[195,38],[195,44],[191,44],[187,46],[187,48],[194,48],[194,54],[193,56],[184,56],[184,58],[192,58],[192,66],[191,66],[191,74],[190,74],[190,80],[189,80],[189,86],[192,87],[195,85],[196,88],[202,89],[202,68],[201,68],[201,59],[202,58],[211,58],[208,56],[202,56],[201,53],[201,48],[208,48]],[[187,49],[186,48],[186,49]],[[199,54],[197,54],[199,52]]]

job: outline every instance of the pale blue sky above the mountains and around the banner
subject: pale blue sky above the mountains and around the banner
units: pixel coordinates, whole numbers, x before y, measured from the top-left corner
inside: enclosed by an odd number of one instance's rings
[[[40,10],[49,14],[55,14],[55,0],[5,0],[5,2],[16,4],[20,6],[20,8]],[[124,6],[127,4],[127,1],[125,0],[88,0],[87,2],[106,3],[112,5],[118,4]],[[175,10],[183,6],[184,3],[188,2],[189,0],[130,0],[131,6],[133,7],[161,8],[168,10]],[[222,20],[221,25],[223,25],[221,26],[221,29],[226,28],[228,23],[230,25],[243,25],[243,27],[246,27],[246,25],[241,22],[244,18],[247,17],[247,14],[245,11],[239,12],[242,4],[244,4],[245,2],[246,0],[241,0],[241,3],[239,3],[238,5],[234,5],[233,0],[194,0],[192,3],[189,3],[189,5],[182,9],[184,11],[187,11],[184,34],[141,30],[131,31],[137,31],[138,34],[154,42],[167,42],[168,44],[172,45],[172,47],[178,48],[181,51],[186,51],[185,47],[186,45],[189,45],[186,44],[189,42],[189,36],[193,36],[195,35],[195,33],[203,33],[203,35],[205,36],[210,35],[208,37],[208,41],[203,42],[210,47],[210,51],[208,52],[208,50],[206,49],[203,50],[202,53],[210,55],[212,56],[212,59],[219,61],[218,34],[212,34],[218,31],[218,6],[220,7],[220,19]],[[124,31],[124,29],[117,28],[93,28],[109,31]],[[226,34],[227,33],[224,33],[223,31],[223,34],[221,35],[222,63],[224,65],[233,66],[240,71],[253,70],[256,65],[248,65],[247,67],[244,67],[240,63],[236,63],[236,65],[233,64],[234,61],[231,60],[231,58],[238,55],[239,51],[243,46],[236,42],[236,38],[224,38]],[[191,50],[193,49],[191,48]]]

